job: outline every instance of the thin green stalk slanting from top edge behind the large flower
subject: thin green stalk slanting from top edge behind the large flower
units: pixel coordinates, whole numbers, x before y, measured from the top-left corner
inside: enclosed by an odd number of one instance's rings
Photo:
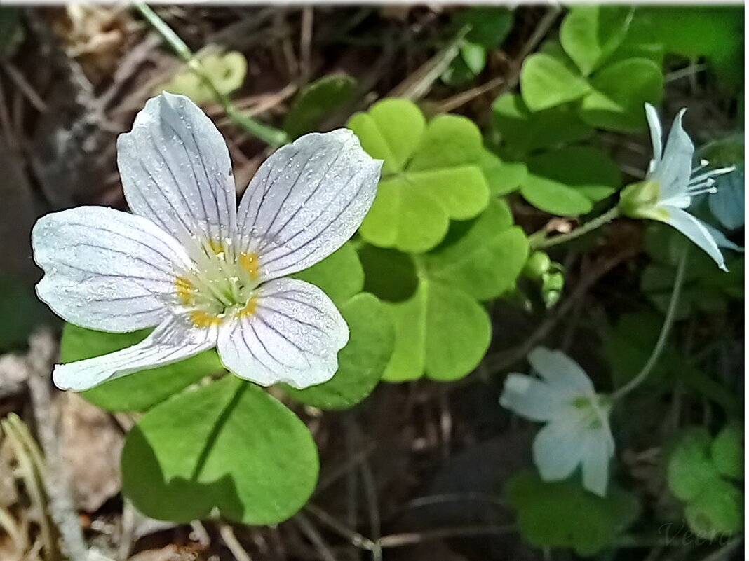
[[[240,126],[242,129],[246,130],[246,132],[259,138],[261,141],[270,144],[270,146],[279,147],[288,143],[289,138],[286,132],[265,123],[261,123],[261,121],[243,114],[243,112],[231,102],[231,99],[229,99],[225,93],[218,91],[216,86],[213,85],[210,76],[205,73],[205,69],[201,62],[195,58],[195,55],[189,49],[189,46],[187,46],[181,37],[176,34],[171,27],[169,27],[169,24],[161,19],[159,14],[154,12],[154,10],[151,10],[151,7],[148,7],[146,4],[136,3],[133,5],[146,21],[151,24],[151,27],[161,35],[163,40],[165,40],[166,43],[169,43],[169,46],[172,47],[174,52],[185,61],[189,70],[201,79],[201,82],[203,82],[203,84],[210,90],[210,93],[213,94],[216,101],[223,106],[226,111],[226,116],[231,119],[234,124]]]

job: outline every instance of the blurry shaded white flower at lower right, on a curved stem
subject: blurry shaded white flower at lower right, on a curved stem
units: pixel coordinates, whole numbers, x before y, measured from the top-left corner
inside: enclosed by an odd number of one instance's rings
[[[533,441],[533,462],[542,479],[566,479],[581,465],[583,487],[604,496],[614,450],[610,402],[595,393],[585,371],[563,352],[536,347],[528,361],[542,379],[509,374],[500,405],[547,423]]]

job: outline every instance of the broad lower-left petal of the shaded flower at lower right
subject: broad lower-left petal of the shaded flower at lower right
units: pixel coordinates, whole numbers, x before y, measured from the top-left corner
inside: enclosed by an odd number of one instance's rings
[[[583,454],[583,425],[569,416],[548,423],[533,441],[533,462],[544,481],[570,476]]]

